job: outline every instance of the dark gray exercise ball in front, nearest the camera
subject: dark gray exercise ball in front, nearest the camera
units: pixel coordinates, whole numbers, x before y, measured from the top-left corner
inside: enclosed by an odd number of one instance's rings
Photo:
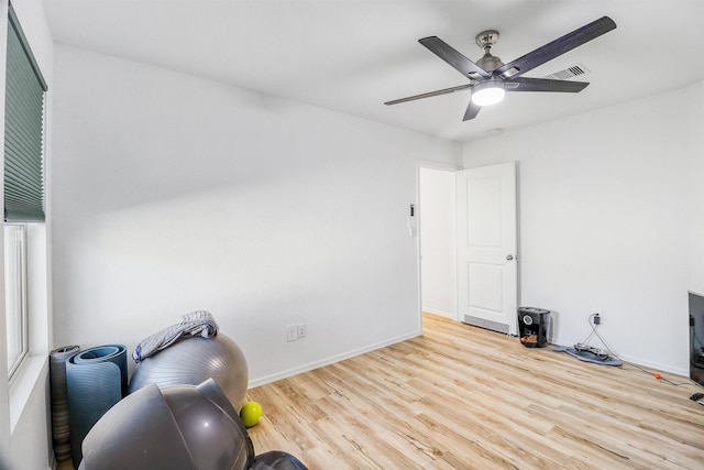
[[[147,384],[118,402],[82,442],[79,470],[244,470],[254,448],[218,384]]]

